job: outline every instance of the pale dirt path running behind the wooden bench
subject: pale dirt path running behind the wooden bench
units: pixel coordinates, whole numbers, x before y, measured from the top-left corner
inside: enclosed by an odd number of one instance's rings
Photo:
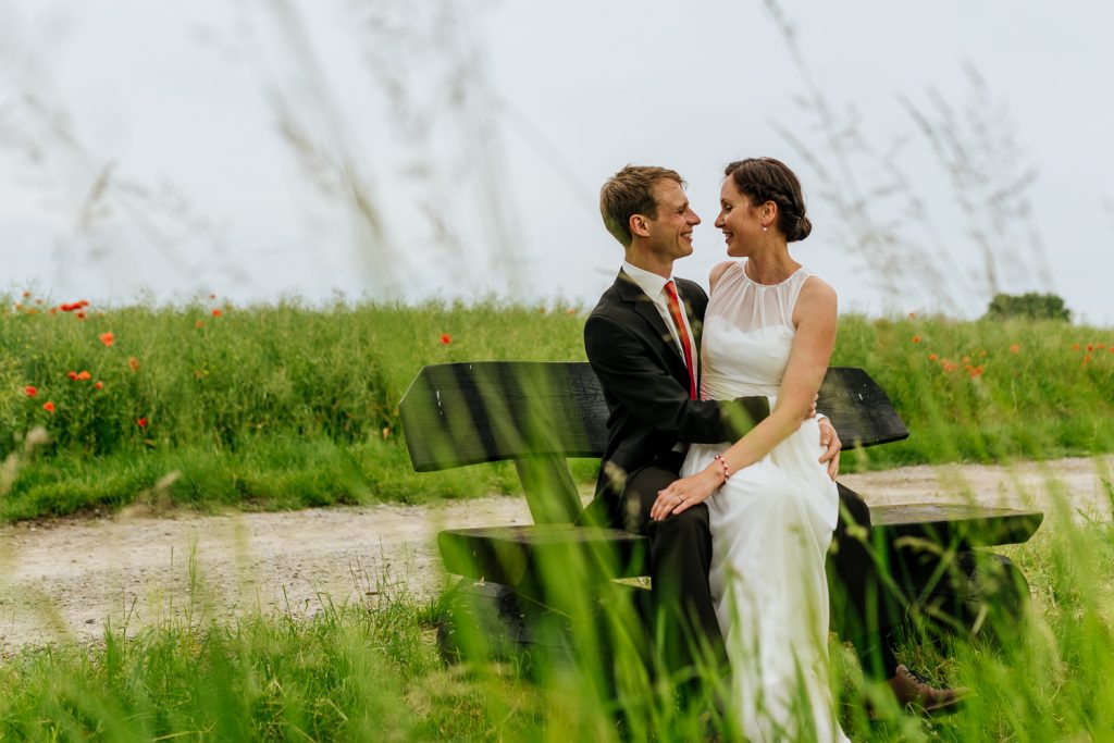
[[[1111,517],[1103,480],[1114,457],[1013,467],[909,467],[841,481],[868,502],[969,501],[1073,508]],[[975,493],[975,495],[971,495]],[[131,629],[206,604],[223,618],[251,610],[312,613],[443,581],[434,537],[447,526],[528,524],[521,498],[280,514],[154,517],[129,512],[0,528],[0,653],[91,639],[105,622]],[[1046,525],[1046,527],[1048,526]],[[192,603],[192,598],[194,599]]]

